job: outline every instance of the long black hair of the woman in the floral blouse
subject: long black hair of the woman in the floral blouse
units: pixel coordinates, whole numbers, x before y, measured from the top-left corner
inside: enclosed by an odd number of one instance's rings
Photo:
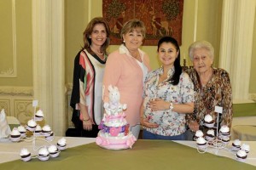
[[[179,46],[177,44],[177,40],[174,39],[173,37],[162,37],[160,38],[158,44],[157,44],[157,51],[159,51],[159,48],[160,48],[160,45],[163,43],[163,42],[170,42],[172,43],[172,45],[175,46],[178,54],[177,54],[177,59],[175,59],[174,61],[174,74],[172,77],[169,78],[168,82],[172,83],[172,85],[177,85],[178,82],[179,82],[179,76],[181,75],[182,73],[182,67],[180,65],[180,49],[179,49]]]

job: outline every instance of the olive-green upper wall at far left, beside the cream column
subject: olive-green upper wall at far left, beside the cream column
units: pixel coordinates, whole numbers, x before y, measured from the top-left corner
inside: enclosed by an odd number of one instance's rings
[[[0,1],[0,73],[9,69],[17,70],[16,77],[9,77],[11,74],[0,77],[0,87],[32,87],[32,2],[19,0],[15,3],[15,13],[13,13],[15,18],[12,23],[12,1]],[[14,34],[13,29],[15,29]],[[13,42],[16,42],[16,52]],[[12,58],[15,53],[14,68]]]

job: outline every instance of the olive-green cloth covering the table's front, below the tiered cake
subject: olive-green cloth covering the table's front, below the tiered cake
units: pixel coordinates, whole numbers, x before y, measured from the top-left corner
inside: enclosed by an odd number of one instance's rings
[[[138,140],[128,150],[105,150],[95,143],[61,151],[49,161],[9,161],[0,164],[0,169],[253,169],[256,167],[233,159],[200,154],[197,150],[164,140]]]

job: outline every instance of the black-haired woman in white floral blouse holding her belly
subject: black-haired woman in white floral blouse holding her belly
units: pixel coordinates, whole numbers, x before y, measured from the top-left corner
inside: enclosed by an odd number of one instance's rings
[[[144,82],[141,124],[143,139],[185,139],[185,113],[194,111],[194,86],[182,71],[180,50],[172,37],[158,42],[162,66]]]

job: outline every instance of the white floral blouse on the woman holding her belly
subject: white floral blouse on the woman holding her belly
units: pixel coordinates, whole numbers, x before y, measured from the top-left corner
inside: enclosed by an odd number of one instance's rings
[[[163,74],[163,68],[160,67],[155,71],[148,73],[144,82],[144,117],[148,122],[154,122],[159,125],[157,128],[143,127],[148,132],[163,135],[163,136],[176,136],[185,132],[185,114],[179,114],[174,111],[151,111],[148,107],[150,99],[164,99],[173,104],[185,104],[194,102],[194,86],[189,75],[185,72],[179,77],[177,85],[172,85],[166,82],[169,77],[172,77],[174,67],[168,71],[167,79],[159,83],[159,77]]]

